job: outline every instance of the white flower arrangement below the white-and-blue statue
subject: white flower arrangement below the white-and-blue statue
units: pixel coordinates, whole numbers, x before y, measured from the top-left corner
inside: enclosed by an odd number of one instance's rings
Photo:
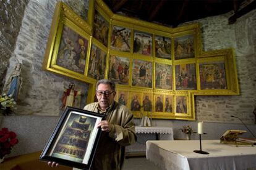
[[[2,113],[2,115],[13,113],[12,109],[15,109],[15,105],[16,102],[12,98],[12,95],[0,95],[0,113]]]

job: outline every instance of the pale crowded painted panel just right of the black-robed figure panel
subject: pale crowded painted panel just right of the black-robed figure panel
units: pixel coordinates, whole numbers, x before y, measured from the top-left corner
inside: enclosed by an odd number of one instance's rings
[[[155,68],[156,88],[172,89],[172,67],[164,63],[156,63]]]

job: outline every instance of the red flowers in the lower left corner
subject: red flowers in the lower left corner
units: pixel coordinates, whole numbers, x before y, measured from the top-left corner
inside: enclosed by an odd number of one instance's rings
[[[0,131],[0,159],[11,153],[12,147],[18,142],[15,132],[2,128]]]

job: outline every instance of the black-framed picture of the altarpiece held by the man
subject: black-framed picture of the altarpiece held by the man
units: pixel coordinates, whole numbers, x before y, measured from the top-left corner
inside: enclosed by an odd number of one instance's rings
[[[104,114],[67,107],[41,153],[40,160],[90,169],[101,136]]]

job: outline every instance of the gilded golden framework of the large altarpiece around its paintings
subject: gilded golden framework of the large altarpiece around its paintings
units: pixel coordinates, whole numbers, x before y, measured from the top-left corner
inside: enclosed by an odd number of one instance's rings
[[[90,56],[90,49],[87,54],[87,64],[85,67],[85,74],[79,75],[77,73],[72,73],[72,71],[61,70],[59,71],[55,67],[53,67],[50,63],[51,60],[54,59],[52,56],[54,46],[54,41],[56,38],[57,27],[62,24],[62,18],[60,14],[71,20],[76,26],[74,28],[81,28],[85,33],[90,35],[89,48],[91,48],[92,44],[95,43],[100,49],[107,52],[106,59],[106,71],[105,78],[109,78],[109,60],[111,55],[115,55],[118,57],[126,57],[129,60],[129,83],[128,85],[118,84],[116,83],[116,91],[117,95],[115,100],[119,100],[120,94],[124,92],[126,96],[126,105],[130,108],[130,102],[132,101],[132,94],[138,94],[140,96],[140,110],[132,111],[134,113],[135,118],[141,118],[143,115],[150,115],[150,118],[160,118],[160,119],[186,119],[186,120],[194,120],[195,119],[195,95],[239,95],[239,85],[237,81],[237,71],[236,71],[236,62],[234,59],[233,49],[223,49],[217,51],[203,51],[202,50],[202,39],[200,35],[200,25],[198,23],[184,25],[177,28],[169,28],[167,26],[158,25],[155,23],[148,23],[142,20],[137,20],[134,18],[124,17],[123,15],[113,14],[113,12],[106,6],[106,4],[102,0],[90,1],[90,9],[88,12],[88,23],[80,19],[72,10],[69,9],[64,3],[59,3],[59,7],[56,7],[56,14],[54,14],[54,20],[51,28],[51,33],[48,41],[48,48],[46,50],[44,68],[49,71],[53,71],[55,73],[59,73],[61,75],[69,76],[71,78],[80,79],[81,81],[85,81],[90,84],[88,90],[88,99],[87,102],[92,102],[95,96],[95,83],[96,79],[89,78],[88,74],[88,59]],[[66,10],[69,9],[69,10]],[[96,40],[92,37],[93,32],[93,19],[95,10],[97,10],[100,15],[103,16],[109,22],[108,29],[108,46],[104,46],[100,41]],[[68,12],[67,12],[68,11]],[[74,19],[74,18],[76,19]],[[61,22],[59,22],[61,20]],[[119,28],[128,28],[130,30],[130,51],[119,51],[118,49],[111,48],[111,38],[113,32],[113,26],[119,26]],[[134,32],[140,31],[145,34],[151,35],[151,55],[143,55],[137,54],[134,52]],[[164,59],[160,57],[156,57],[155,52],[155,37],[163,36],[171,39],[171,59]],[[124,34],[122,34],[122,40],[126,41]],[[164,41],[163,41],[164,43]],[[58,44],[58,43],[57,43]],[[178,49],[178,45],[179,47]],[[57,46],[58,47],[58,46]],[[144,46],[143,44],[143,47]],[[178,51],[179,50],[179,51]],[[177,59],[176,52],[179,52],[183,57],[181,59]],[[177,53],[178,54],[178,53]],[[189,56],[189,57],[187,57]],[[132,71],[133,71],[133,63],[135,60],[142,60],[145,62],[151,63],[152,70],[142,71],[142,77],[138,79],[140,81],[148,81],[151,79],[151,87],[144,86],[133,86],[132,85]],[[156,88],[156,63],[166,64],[171,66],[171,89],[160,89]],[[205,88],[202,89],[200,86],[200,65],[203,63],[213,63],[213,65],[218,66],[216,63],[221,63],[224,65],[224,74],[225,74],[225,82],[226,88],[220,89],[218,86],[213,86],[216,88]],[[193,64],[195,66],[195,89],[177,89],[176,87],[176,66],[182,65],[182,69],[180,73],[182,73],[184,78],[189,79],[191,83],[191,74],[189,68],[186,65]],[[189,66],[188,66],[189,67]],[[136,68],[137,70],[139,68]],[[220,69],[219,69],[220,70]],[[151,77],[148,76],[147,71],[151,71]],[[187,71],[187,72],[186,72]],[[218,71],[218,69],[217,69]],[[223,70],[221,70],[223,71]],[[184,72],[184,73],[183,73]],[[119,70],[118,74],[121,74],[122,71]],[[139,73],[137,73],[139,74]],[[223,72],[221,73],[223,75]],[[215,76],[216,77],[216,76]],[[183,79],[184,80],[184,79]],[[186,80],[189,81],[189,80]],[[184,81],[182,86],[188,86],[188,82]],[[209,81],[210,82],[210,81]],[[211,82],[210,82],[211,83]],[[207,86],[208,87],[208,86]],[[145,94],[150,95],[151,103],[152,103],[152,111],[144,111],[142,108],[143,96]],[[166,97],[171,96],[173,100],[172,111],[155,111],[155,103],[156,96],[163,97],[163,107],[166,105]],[[176,106],[182,97],[186,97],[186,112],[187,113],[177,113]]]

